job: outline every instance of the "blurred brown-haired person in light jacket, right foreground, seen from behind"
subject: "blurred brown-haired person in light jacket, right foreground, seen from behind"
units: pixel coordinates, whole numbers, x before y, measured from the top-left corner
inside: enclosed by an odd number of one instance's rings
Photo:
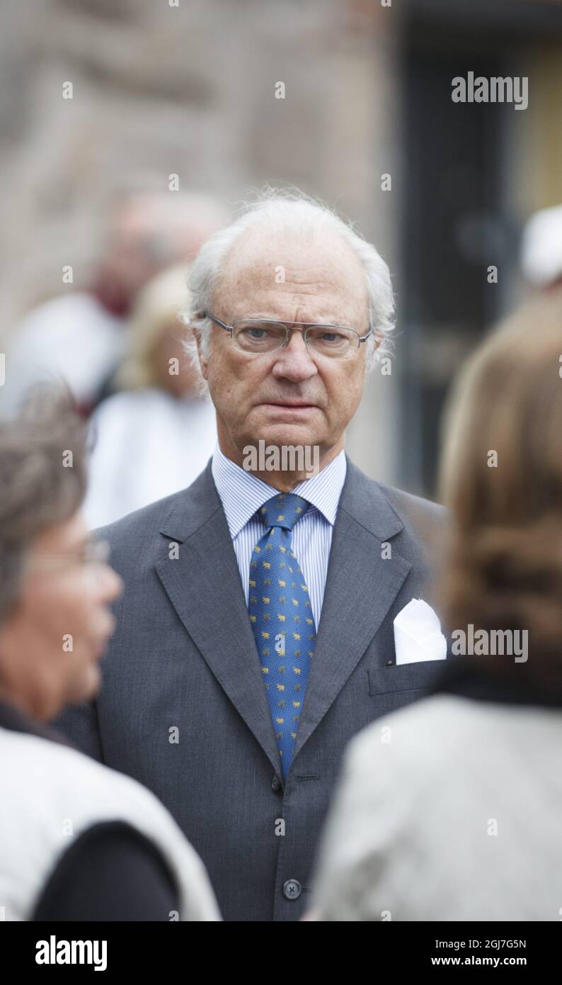
[[[316,919],[560,920],[561,353],[562,296],[542,296],[462,373],[441,469],[453,657],[350,743]]]

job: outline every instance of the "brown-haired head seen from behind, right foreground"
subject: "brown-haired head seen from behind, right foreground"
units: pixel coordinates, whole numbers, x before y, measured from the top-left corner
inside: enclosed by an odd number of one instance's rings
[[[515,676],[562,689],[562,296],[489,336],[446,416],[440,492],[453,511],[441,581],[450,630],[528,630]],[[476,659],[476,658],[475,658]],[[493,657],[482,657],[479,665]]]

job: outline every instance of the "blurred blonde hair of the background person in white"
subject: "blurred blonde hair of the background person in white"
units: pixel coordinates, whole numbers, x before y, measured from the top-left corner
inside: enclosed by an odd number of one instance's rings
[[[174,320],[178,338],[185,335],[179,311],[188,297],[187,264],[168,267],[154,277],[137,297],[127,337],[125,358],[117,372],[117,385],[124,390],[159,386],[154,350],[158,335]]]

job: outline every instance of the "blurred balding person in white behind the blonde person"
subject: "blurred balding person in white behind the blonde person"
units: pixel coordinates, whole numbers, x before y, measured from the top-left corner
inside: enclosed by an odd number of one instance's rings
[[[33,384],[60,380],[88,416],[113,391],[112,376],[139,291],[163,268],[187,264],[225,222],[224,208],[207,195],[138,192],[118,198],[91,288],[68,287],[38,304],[11,330],[0,419],[17,413]]]

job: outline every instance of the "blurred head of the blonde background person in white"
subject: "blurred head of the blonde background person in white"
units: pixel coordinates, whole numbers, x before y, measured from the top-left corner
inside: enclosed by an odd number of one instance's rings
[[[199,377],[185,355],[186,328],[178,318],[187,297],[187,272],[183,264],[170,267],[137,297],[117,373],[120,388],[156,387],[177,398],[197,395]]]

